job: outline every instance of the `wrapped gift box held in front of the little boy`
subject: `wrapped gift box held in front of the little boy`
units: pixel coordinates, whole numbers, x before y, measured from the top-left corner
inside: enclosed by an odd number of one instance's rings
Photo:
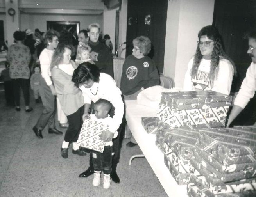
[[[86,119],[82,124],[77,145],[103,153],[106,142],[100,139],[100,135],[108,130],[108,128],[108,124]]]

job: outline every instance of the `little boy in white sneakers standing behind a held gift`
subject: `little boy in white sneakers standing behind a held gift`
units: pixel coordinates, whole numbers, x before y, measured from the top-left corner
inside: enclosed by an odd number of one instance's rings
[[[108,115],[111,104],[105,99],[99,99],[94,103],[94,113],[91,114],[90,118],[97,122],[103,122],[109,124],[113,119]],[[102,133],[101,136],[106,135]],[[114,133],[116,138],[118,135],[117,131]],[[103,153],[92,151],[92,162],[94,168],[93,186],[100,185],[100,174],[103,171],[103,188],[108,189],[110,187],[110,173],[112,171],[112,157],[113,157],[113,142],[112,140],[106,142]]]

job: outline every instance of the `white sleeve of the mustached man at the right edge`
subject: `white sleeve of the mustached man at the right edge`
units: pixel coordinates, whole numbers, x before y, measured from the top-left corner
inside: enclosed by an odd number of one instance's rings
[[[245,108],[245,106],[248,104],[250,99],[254,96],[255,91],[256,91],[256,64],[252,62],[249,68],[247,69],[246,76],[236,96],[234,105],[238,105],[242,108]]]

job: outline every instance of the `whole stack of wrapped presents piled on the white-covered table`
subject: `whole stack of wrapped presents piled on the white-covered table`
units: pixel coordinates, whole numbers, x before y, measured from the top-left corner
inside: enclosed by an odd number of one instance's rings
[[[256,196],[256,127],[224,128],[231,101],[214,91],[162,93],[151,118],[148,133],[190,197]]]

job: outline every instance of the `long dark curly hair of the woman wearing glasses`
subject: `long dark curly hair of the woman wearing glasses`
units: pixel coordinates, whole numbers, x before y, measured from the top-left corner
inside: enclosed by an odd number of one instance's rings
[[[227,56],[224,51],[222,38],[218,29],[212,25],[208,25],[203,27],[199,33],[198,38],[200,39],[201,36],[206,35],[209,39],[213,40],[213,52],[211,53],[211,66],[210,66],[210,79],[214,83],[215,78],[218,78],[218,70],[219,70],[219,62],[220,59],[227,59],[233,65],[234,73],[236,75],[236,68],[233,61]],[[197,50],[195,52],[193,66],[191,69],[191,78],[194,78],[197,74],[198,67],[202,60],[202,54],[199,48],[199,42],[197,43]]]

